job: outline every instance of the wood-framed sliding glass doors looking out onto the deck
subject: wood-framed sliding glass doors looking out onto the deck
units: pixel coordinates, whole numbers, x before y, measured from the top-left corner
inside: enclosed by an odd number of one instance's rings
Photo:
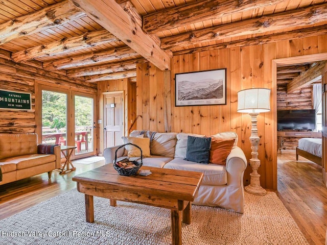
[[[96,95],[42,84],[37,90],[42,98],[35,110],[39,142],[76,146],[72,159],[96,155]]]

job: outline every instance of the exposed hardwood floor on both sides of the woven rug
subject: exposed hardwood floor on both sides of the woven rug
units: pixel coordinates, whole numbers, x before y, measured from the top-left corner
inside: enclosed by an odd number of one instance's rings
[[[76,188],[73,176],[101,166],[74,164],[76,171],[59,175],[54,171],[51,180],[42,174],[0,186],[0,220]],[[293,216],[310,244],[322,245],[327,227],[327,188],[321,181],[321,167],[295,154],[278,154],[277,195]],[[1,221],[0,221],[1,224]]]

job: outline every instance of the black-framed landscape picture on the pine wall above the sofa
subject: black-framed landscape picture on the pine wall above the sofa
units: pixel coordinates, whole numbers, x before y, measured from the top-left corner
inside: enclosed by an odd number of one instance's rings
[[[175,106],[226,105],[226,68],[175,74]]]

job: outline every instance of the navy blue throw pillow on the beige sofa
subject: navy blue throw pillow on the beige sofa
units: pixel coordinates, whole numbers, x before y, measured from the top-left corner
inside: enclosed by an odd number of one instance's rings
[[[188,136],[188,147],[184,160],[208,163],[210,156],[211,138]]]

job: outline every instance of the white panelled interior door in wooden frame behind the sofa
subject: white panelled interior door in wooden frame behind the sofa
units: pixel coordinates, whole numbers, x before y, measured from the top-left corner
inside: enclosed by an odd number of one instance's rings
[[[122,144],[124,136],[124,93],[109,92],[104,101],[104,149]]]

